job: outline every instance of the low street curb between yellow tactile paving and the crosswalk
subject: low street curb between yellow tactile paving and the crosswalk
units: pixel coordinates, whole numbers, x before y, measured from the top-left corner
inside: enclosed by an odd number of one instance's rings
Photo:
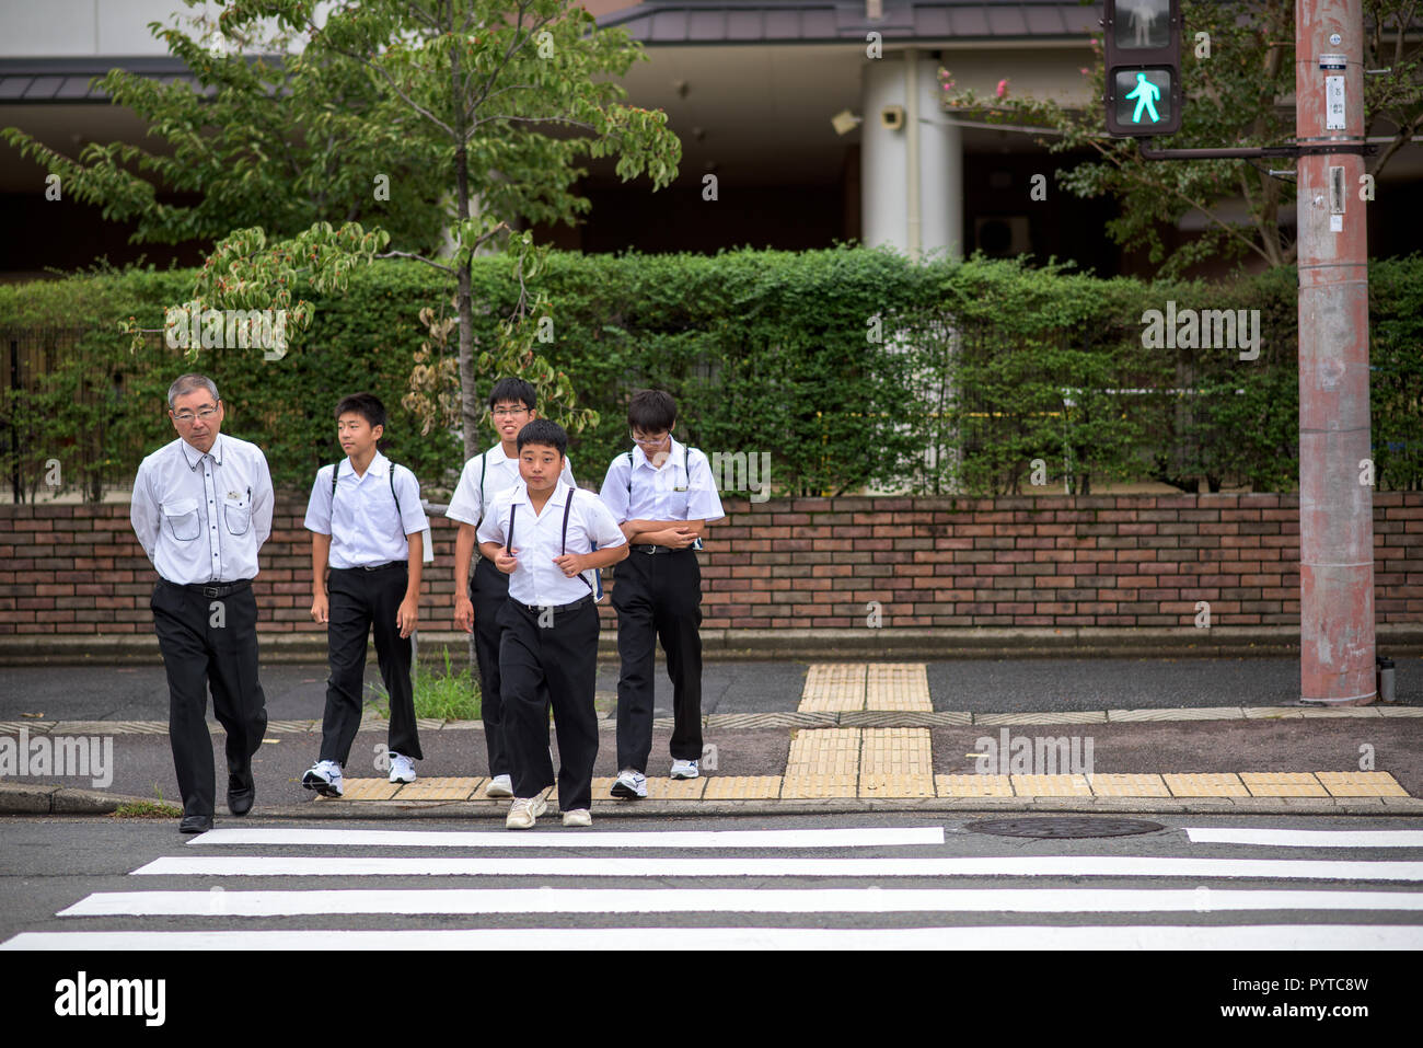
[[[0,783],[0,814],[112,814],[120,805],[154,803],[149,797],[128,797],[102,790],[64,786],[26,786]],[[1423,814],[1417,797],[844,797],[827,800],[639,800],[595,802],[598,819],[638,819],[643,816],[747,817],[864,814],[871,812],[1003,814],[1335,814],[1335,816],[1416,816]],[[508,806],[502,800],[310,800],[305,805],[260,807],[252,816],[233,819],[218,814],[226,824],[270,819],[360,820],[360,819],[502,819]]]

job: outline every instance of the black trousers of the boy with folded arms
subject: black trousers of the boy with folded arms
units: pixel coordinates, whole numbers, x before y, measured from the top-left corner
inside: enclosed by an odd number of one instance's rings
[[[702,759],[702,568],[692,550],[633,548],[613,568],[618,609],[618,769],[646,773],[652,755],[657,639],[672,679],[672,758]]]

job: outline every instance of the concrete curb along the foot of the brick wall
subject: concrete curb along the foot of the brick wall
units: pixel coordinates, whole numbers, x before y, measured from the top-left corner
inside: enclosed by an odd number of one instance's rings
[[[1390,656],[1423,655],[1423,627],[1383,622],[1377,648]],[[263,662],[326,662],[326,635],[259,632]],[[433,629],[423,645],[462,649],[468,636]],[[599,655],[618,655],[616,629],[605,628]],[[1298,627],[1114,628],[956,628],[939,629],[703,629],[702,654],[710,662],[872,659],[942,662],[1002,658],[1279,658],[1299,654]],[[0,666],[161,664],[158,638],[149,634],[92,636],[3,636]]]

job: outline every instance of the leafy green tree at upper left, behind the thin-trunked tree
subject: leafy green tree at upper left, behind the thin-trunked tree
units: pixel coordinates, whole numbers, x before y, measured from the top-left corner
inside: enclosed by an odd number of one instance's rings
[[[219,31],[202,0],[184,3],[196,13],[148,28],[191,81],[122,68],[95,80],[148,124],[151,148],[90,142],[68,157],[16,127],[0,135],[60,175],[67,197],[131,222],[134,243],[198,241],[208,249],[248,226],[280,239],[316,222],[377,222],[403,243],[440,245],[444,172],[396,148],[401,125],[371,118],[379,93],[363,68],[297,50],[292,31]],[[413,189],[401,206],[373,191],[379,174]]]

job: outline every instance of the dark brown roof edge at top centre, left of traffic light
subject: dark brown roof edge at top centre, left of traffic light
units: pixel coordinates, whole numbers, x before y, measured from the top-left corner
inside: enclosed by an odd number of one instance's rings
[[[840,43],[864,40],[1052,40],[1097,27],[1101,4],[1077,0],[653,0],[598,19],[646,44]]]

